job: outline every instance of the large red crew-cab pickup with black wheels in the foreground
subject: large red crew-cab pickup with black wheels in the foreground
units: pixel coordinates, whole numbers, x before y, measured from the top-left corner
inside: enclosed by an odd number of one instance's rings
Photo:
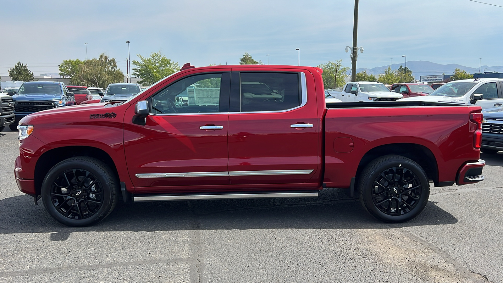
[[[197,67],[123,102],[30,114],[19,123],[20,190],[69,226],[117,201],[316,197],[356,191],[385,222],[425,207],[430,183],[483,180],[480,106],[325,103],[322,69]],[[122,196],[122,197],[121,197]]]

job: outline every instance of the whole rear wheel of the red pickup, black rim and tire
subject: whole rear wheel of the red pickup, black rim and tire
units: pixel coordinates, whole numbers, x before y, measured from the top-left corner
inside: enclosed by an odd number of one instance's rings
[[[358,189],[369,214],[388,223],[413,219],[430,197],[430,182],[423,168],[399,155],[371,161],[360,174]]]

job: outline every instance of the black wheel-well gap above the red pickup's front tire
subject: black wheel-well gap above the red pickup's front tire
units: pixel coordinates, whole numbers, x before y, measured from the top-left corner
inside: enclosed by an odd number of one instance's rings
[[[117,171],[117,167],[112,159],[112,157],[104,150],[89,147],[89,146],[67,146],[67,147],[59,147],[51,149],[45,153],[43,153],[37,160],[34,171],[34,185],[35,185],[35,193],[40,195],[42,182],[54,165],[57,163],[76,156],[88,156],[96,158],[106,165],[108,165],[117,180],[119,180],[119,174]]]

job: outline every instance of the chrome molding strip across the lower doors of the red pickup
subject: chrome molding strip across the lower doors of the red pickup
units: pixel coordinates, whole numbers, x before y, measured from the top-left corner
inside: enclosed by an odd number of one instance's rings
[[[264,175],[306,175],[314,170],[261,170],[230,172],[186,172],[186,173],[139,173],[138,178],[182,178],[182,177],[220,177],[220,176],[264,176]]]

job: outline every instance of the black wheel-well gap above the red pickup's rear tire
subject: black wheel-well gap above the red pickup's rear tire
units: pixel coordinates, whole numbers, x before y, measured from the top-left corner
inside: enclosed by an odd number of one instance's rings
[[[438,185],[439,170],[435,155],[426,146],[411,143],[386,144],[370,149],[360,160],[356,176],[358,177],[372,160],[385,155],[401,155],[413,160],[425,170],[428,179]]]

